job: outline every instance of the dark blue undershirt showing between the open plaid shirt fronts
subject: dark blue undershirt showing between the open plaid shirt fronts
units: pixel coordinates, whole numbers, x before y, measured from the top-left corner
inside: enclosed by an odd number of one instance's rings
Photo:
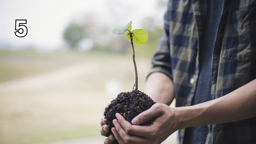
[[[211,62],[215,36],[224,0],[208,0],[205,31],[199,47],[199,77],[192,105],[211,100]],[[185,130],[184,144],[205,144],[208,127],[195,126]]]

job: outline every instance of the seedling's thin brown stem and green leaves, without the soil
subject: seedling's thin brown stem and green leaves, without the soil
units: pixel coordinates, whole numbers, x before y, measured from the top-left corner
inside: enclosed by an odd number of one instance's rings
[[[112,30],[114,34],[125,34],[125,37],[131,42],[132,45],[132,58],[133,58],[133,65],[135,69],[135,90],[138,90],[138,73],[137,73],[137,66],[135,62],[135,52],[134,52],[134,44],[137,45],[145,45],[147,43],[147,32],[144,29],[134,29],[132,31],[132,21],[130,21],[126,26],[123,28],[116,28]]]

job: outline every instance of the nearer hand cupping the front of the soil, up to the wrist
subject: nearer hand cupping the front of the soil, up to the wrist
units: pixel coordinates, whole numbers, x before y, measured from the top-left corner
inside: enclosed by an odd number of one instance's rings
[[[136,116],[132,120],[133,125],[118,113],[116,118],[112,132],[120,144],[159,144],[178,130],[175,110],[165,104],[154,104]],[[155,119],[151,126],[139,126],[151,118]]]

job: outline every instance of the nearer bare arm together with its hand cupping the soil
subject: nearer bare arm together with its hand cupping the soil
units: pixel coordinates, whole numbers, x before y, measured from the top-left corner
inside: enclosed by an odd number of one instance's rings
[[[120,114],[112,128],[121,144],[159,144],[179,129],[191,126],[220,124],[256,116],[256,79],[233,92],[198,105],[171,108],[155,104],[132,120],[131,125]],[[138,126],[157,117],[151,126]]]

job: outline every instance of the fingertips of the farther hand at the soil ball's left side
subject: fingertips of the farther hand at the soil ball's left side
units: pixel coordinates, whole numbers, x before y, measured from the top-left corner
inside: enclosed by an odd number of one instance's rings
[[[109,126],[107,125],[108,120],[103,118],[100,121],[100,125],[101,125],[101,129],[100,129],[100,133],[102,136],[108,137],[105,141],[104,144],[112,144],[115,140],[114,135],[109,135],[108,136],[108,132],[109,132]]]

